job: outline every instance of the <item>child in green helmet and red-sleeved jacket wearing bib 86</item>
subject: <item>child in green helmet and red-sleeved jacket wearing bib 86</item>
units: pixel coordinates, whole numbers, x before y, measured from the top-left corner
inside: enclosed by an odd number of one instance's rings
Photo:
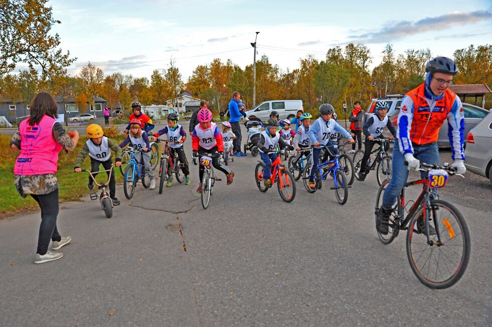
[[[170,141],[168,143],[170,154],[174,155],[177,153],[179,162],[183,164],[183,168],[181,171],[186,176],[185,185],[190,185],[190,166],[188,165],[188,160],[186,159],[186,153],[183,149],[183,143],[186,141],[186,132],[183,129],[183,126],[178,124],[179,116],[175,112],[171,112],[167,116],[167,126],[154,133],[150,138],[152,141],[155,141],[157,137],[166,134],[167,139]],[[176,144],[179,143],[179,144]],[[171,162],[167,163],[167,175],[168,180],[166,183],[166,187],[170,187],[173,184],[174,178],[172,177],[172,172],[170,170]]]

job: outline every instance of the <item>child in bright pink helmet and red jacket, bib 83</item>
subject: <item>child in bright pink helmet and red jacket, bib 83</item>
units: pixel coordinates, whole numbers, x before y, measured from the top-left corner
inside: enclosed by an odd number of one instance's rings
[[[222,134],[217,127],[217,125],[212,121],[212,112],[206,108],[200,109],[197,114],[199,124],[193,129],[193,134],[191,136],[191,142],[193,145],[193,156],[197,157],[203,153],[224,153],[224,143],[222,140]],[[232,183],[234,173],[231,172],[227,166],[219,162],[218,157],[212,157],[212,165],[215,169],[218,169],[227,177],[227,185]],[[202,178],[203,171],[205,168],[199,165],[199,177],[200,184],[196,189],[196,193],[202,192]]]

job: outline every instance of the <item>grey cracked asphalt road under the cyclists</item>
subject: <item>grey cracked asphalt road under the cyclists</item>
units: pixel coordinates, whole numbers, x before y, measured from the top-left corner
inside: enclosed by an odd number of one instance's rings
[[[207,210],[193,165],[190,186],[162,195],[139,185],[127,200],[118,186],[111,219],[88,197],[64,203],[58,226],[73,243],[46,264],[33,264],[39,213],[0,221],[0,325],[492,324],[486,179],[463,189],[453,177],[441,192],[465,217],[472,249],[462,279],[432,290],[410,269],[406,233],[378,240],[374,172],[344,206],[327,187],[308,194],[302,180],[286,204],[276,189],[257,189],[258,159],[235,158],[234,183],[217,182]]]

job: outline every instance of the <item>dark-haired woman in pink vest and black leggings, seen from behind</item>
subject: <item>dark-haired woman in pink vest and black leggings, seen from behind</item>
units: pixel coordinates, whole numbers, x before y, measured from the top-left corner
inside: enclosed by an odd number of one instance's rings
[[[58,105],[50,94],[38,93],[29,108],[31,116],[21,122],[10,144],[13,149],[21,150],[14,166],[17,192],[23,198],[31,195],[41,208],[34,263],[43,263],[63,257],[63,253],[48,251],[50,239],[55,251],[72,241],[70,236],[61,237],[56,228],[59,185],[55,173],[58,153],[62,149],[72,151],[79,134],[74,131],[69,136],[56,121]]]

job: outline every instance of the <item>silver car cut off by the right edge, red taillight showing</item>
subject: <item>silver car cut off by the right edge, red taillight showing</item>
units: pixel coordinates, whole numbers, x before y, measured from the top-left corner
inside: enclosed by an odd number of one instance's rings
[[[465,167],[492,184],[492,109],[466,136]]]

